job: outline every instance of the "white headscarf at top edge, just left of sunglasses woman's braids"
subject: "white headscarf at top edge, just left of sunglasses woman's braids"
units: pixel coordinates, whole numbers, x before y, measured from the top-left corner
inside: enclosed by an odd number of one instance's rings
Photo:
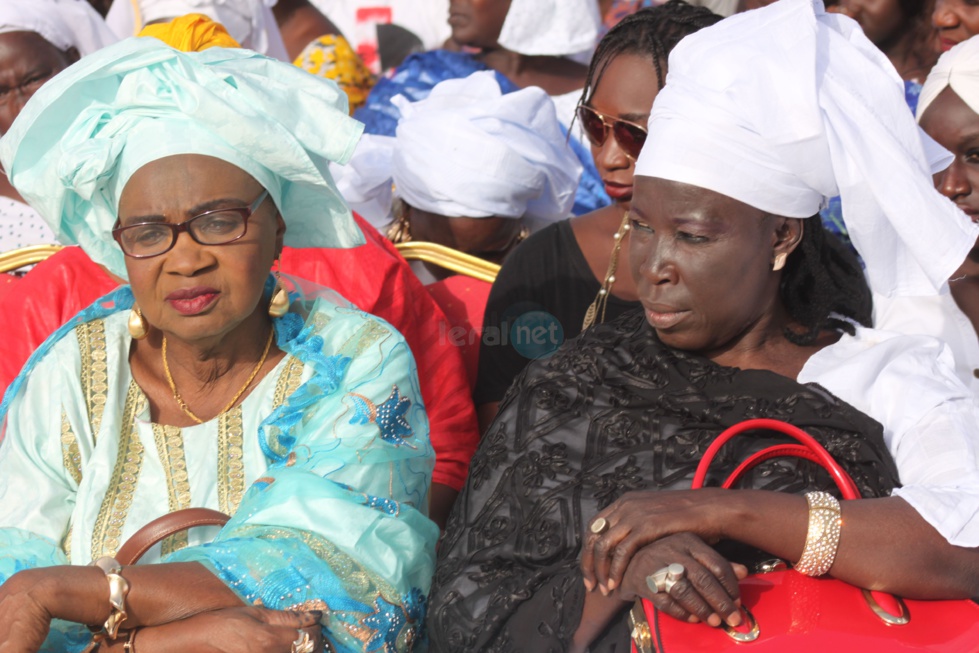
[[[513,0],[498,43],[511,52],[587,57],[587,63],[601,26],[595,0]]]

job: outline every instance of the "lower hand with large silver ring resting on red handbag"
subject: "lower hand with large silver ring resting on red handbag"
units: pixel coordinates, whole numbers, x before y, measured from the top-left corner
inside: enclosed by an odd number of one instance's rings
[[[647,578],[671,564],[683,565],[685,573],[665,591],[653,592]],[[660,611],[684,621],[704,621],[720,626],[741,623],[738,580],[748,575],[744,565],[728,562],[692,533],[669,535],[644,546],[632,557],[618,598],[649,599]]]

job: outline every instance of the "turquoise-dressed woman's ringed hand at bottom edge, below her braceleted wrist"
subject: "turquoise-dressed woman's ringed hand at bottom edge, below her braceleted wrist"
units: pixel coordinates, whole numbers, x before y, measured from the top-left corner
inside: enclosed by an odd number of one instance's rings
[[[224,608],[144,628],[137,633],[140,653],[290,653],[307,632],[313,651],[323,650],[319,611],[289,612],[258,607]]]

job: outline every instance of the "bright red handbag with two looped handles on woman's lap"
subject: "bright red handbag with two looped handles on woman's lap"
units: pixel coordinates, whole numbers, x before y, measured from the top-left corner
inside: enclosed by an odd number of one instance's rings
[[[842,467],[805,431],[772,419],[746,420],[721,433],[694,475],[701,488],[717,452],[734,436],[764,429],[800,444],[781,444],[748,457],[722,487],[765,460],[794,456],[811,460],[833,477],[844,499],[859,499]],[[629,615],[633,653],[963,653],[979,651],[979,605],[973,601],[918,601],[871,592],[826,576],[812,578],[773,561],[766,571],[741,581],[742,625],[711,628],[661,614],[637,601]]]

